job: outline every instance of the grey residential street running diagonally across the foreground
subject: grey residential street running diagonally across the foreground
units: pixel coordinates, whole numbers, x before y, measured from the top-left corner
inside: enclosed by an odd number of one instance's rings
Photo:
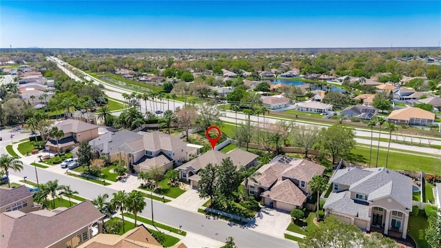
[[[54,172],[48,172],[45,169],[37,168],[39,183],[44,183],[48,180],[59,180],[60,185],[70,185],[73,190],[79,192],[79,195],[93,199],[99,194],[112,194],[116,192],[113,189],[97,185],[96,183],[89,183],[85,180],[65,176]],[[10,172],[14,176],[27,176],[28,180],[37,181],[35,176],[35,169],[30,165],[23,165],[22,172]],[[145,200],[147,205],[140,216],[145,218],[152,218],[152,211],[150,208],[151,201]],[[229,236],[234,237],[234,242],[238,247],[298,247],[298,245],[289,240],[282,240],[273,236],[268,236],[251,229],[245,229],[238,225],[229,225],[221,220],[212,220],[205,218],[201,214],[185,211],[175,207],[170,207],[163,203],[153,202],[154,220],[179,227],[185,231],[192,231],[196,234],[201,234],[208,238],[225,242]]]

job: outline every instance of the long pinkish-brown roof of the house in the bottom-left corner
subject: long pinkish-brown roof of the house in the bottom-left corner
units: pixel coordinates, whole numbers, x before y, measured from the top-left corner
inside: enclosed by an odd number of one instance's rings
[[[49,217],[40,211],[20,218],[0,214],[0,247],[48,247],[104,217],[89,200]]]

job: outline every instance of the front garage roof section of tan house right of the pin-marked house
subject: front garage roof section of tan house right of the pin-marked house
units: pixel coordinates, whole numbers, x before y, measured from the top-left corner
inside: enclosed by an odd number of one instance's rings
[[[262,196],[295,206],[301,206],[307,198],[302,190],[289,179],[279,180],[276,185],[271,187],[271,190],[263,192]]]

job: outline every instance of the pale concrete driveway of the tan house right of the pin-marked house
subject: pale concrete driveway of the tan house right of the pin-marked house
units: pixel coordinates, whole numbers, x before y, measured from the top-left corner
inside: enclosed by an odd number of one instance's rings
[[[248,225],[249,229],[277,238],[285,238],[283,234],[291,222],[291,216],[287,212],[265,207],[256,214],[255,220]]]

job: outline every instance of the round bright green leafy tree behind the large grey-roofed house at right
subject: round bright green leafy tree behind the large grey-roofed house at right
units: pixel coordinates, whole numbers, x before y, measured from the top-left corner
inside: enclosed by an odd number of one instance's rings
[[[331,155],[333,164],[338,157],[349,153],[355,145],[353,129],[344,125],[334,124],[327,129],[322,128],[318,134],[318,146],[323,152]]]

